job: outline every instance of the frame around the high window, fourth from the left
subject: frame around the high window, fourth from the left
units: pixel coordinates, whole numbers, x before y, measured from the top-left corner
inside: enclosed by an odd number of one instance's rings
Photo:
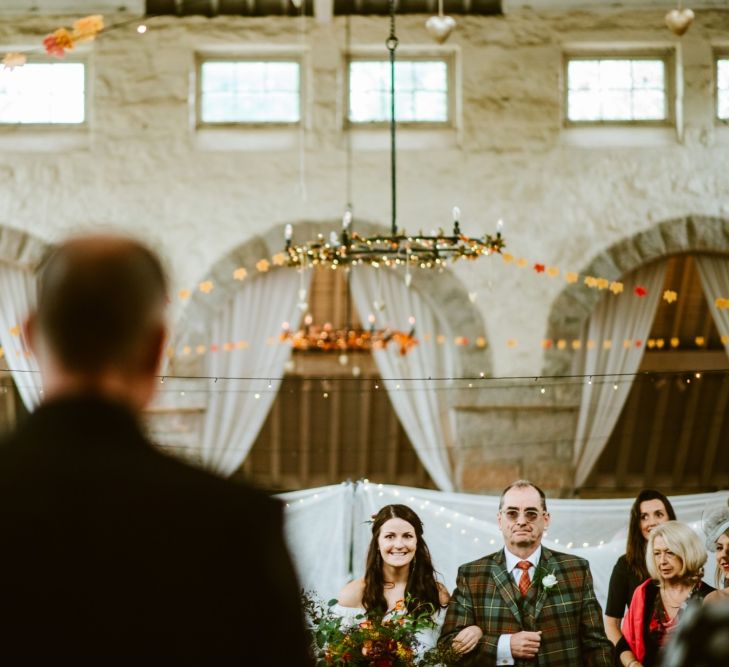
[[[575,60],[661,60],[664,67],[666,117],[660,120],[571,120],[569,110],[569,64]],[[562,54],[562,124],[579,127],[672,127],[676,124],[676,59],[673,49],[569,50]]]

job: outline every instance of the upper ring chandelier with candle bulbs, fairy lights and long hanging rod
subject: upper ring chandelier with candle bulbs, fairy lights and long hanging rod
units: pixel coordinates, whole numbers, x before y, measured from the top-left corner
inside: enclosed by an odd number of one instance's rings
[[[286,263],[293,267],[337,266],[369,264],[373,267],[414,266],[422,269],[442,268],[448,262],[460,258],[477,259],[484,255],[501,252],[504,247],[502,223],[499,221],[494,235],[468,237],[461,232],[460,210],[453,208],[453,231],[443,230],[430,235],[407,234],[397,226],[397,171],[395,121],[395,50],[398,38],[395,34],[395,0],[390,0],[390,35],[386,41],[390,60],[390,193],[392,198],[389,234],[361,236],[352,229],[352,213],[348,208],[342,219],[342,228],[332,232],[329,239],[319,235],[303,244],[292,240],[293,229],[286,226]]]

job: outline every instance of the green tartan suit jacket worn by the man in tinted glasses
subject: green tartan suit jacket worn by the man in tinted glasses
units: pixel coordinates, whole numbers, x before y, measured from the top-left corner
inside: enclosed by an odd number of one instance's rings
[[[557,579],[549,589],[541,584],[547,574]],[[544,546],[524,598],[506,571],[503,549],[458,568],[440,641],[452,641],[469,625],[479,626],[484,634],[461,665],[495,665],[499,637],[521,630],[541,630],[542,641],[535,659],[516,660],[516,665],[612,665],[613,646],[605,636],[587,561]]]

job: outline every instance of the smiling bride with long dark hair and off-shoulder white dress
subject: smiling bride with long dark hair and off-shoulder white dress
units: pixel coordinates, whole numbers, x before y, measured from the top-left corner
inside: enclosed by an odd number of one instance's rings
[[[347,584],[339,594],[339,611],[354,618],[386,616],[403,605],[408,611],[430,605],[433,627],[417,635],[418,656],[433,648],[448,604],[448,590],[436,581],[423,523],[407,505],[385,505],[372,522],[364,577]]]

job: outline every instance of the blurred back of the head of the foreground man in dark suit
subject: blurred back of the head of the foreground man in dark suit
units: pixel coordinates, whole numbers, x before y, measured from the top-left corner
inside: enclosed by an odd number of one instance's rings
[[[57,247],[41,267],[36,326],[69,373],[145,372],[164,330],[167,281],[137,241],[87,236]]]

